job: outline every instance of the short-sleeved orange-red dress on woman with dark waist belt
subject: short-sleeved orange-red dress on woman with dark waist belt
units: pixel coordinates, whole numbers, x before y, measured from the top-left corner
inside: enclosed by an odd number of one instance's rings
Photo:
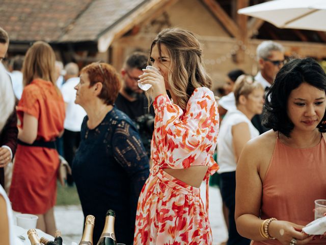
[[[49,81],[35,79],[24,88],[17,106],[20,128],[24,127],[24,113],[38,120],[37,140],[55,140],[63,130],[64,101]],[[12,209],[43,214],[55,206],[58,167],[56,149],[18,144],[9,192]]]

